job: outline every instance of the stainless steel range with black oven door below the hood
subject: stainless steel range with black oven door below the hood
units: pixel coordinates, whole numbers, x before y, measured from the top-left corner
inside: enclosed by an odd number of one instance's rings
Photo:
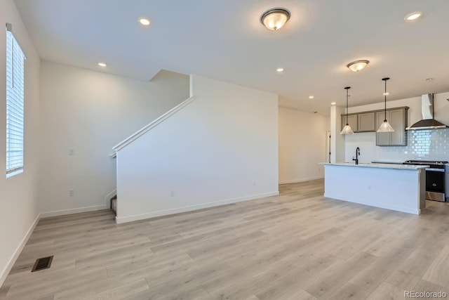
[[[448,193],[448,179],[446,173],[449,171],[448,162],[432,160],[408,160],[403,164],[417,164],[429,166],[426,168],[426,200],[445,202]]]

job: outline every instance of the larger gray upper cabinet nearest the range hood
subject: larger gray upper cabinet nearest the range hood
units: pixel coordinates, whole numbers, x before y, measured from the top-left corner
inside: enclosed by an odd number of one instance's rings
[[[393,127],[394,132],[376,133],[376,145],[378,146],[406,146],[408,125],[408,107],[394,108],[387,110],[387,120]],[[385,114],[382,111],[376,112],[376,128],[384,122]]]

